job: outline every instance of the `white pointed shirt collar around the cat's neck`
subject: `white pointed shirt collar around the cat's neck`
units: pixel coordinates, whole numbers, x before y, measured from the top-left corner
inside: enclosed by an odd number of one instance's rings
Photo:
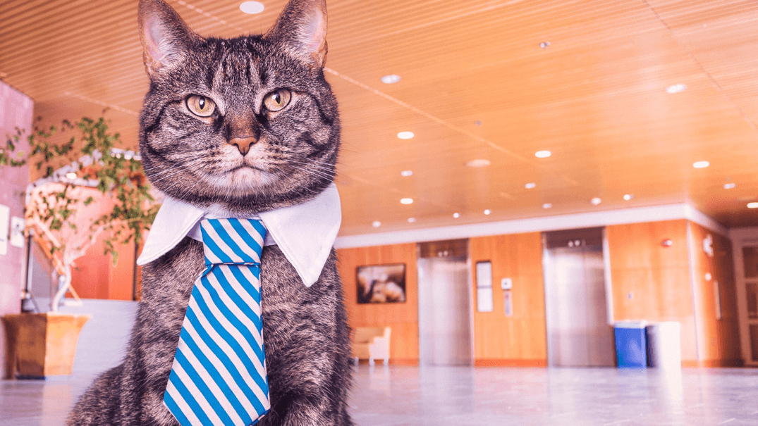
[[[200,220],[233,217],[166,197],[145,241],[137,265],[142,266],[163,256],[185,236],[202,241]],[[306,287],[321,276],[342,222],[340,193],[331,184],[321,194],[304,204],[258,213],[247,219],[260,219],[265,225],[265,245],[277,244],[292,263]]]

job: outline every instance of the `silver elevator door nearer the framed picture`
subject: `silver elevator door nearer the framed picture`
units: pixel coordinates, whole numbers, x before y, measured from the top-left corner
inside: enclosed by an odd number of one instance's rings
[[[465,257],[418,259],[421,365],[471,365],[471,297]]]

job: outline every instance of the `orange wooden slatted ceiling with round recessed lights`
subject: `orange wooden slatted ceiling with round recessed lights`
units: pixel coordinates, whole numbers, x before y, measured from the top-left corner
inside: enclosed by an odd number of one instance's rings
[[[265,31],[284,5],[246,15],[230,0],[169,2],[205,36]],[[684,201],[724,225],[758,225],[745,207],[758,200],[755,2],[328,7],[343,235]],[[136,1],[11,0],[0,20],[0,76],[35,99],[37,115],[55,121],[108,106],[136,144],[148,87]],[[390,73],[402,80],[379,81]],[[678,83],[687,90],[666,93]],[[416,137],[396,138],[403,130]],[[553,156],[534,157],[545,149]],[[476,158],[491,164],[465,166]],[[697,160],[711,166],[694,169]],[[400,176],[406,169],[413,176]]]

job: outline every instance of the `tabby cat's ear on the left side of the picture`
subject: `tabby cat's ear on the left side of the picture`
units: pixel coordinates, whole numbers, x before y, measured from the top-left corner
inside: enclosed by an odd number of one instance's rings
[[[179,64],[189,48],[200,40],[163,0],[139,0],[137,15],[148,76]]]

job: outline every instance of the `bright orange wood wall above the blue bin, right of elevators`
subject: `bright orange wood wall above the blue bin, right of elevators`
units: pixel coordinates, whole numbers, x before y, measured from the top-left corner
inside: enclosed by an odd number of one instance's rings
[[[679,322],[685,365],[697,363],[687,228],[686,219],[606,228],[614,320]]]

